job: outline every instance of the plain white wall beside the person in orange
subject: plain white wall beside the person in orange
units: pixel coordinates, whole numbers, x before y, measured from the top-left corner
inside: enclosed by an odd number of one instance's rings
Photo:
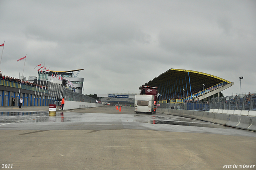
[[[103,106],[100,103],[88,103],[88,102],[74,102],[65,100],[64,110],[78,109],[78,108],[94,108]]]

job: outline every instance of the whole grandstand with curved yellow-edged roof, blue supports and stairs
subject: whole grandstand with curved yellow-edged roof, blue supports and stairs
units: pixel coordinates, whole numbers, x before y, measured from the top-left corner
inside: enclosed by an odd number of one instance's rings
[[[145,83],[145,86],[158,87],[159,100],[164,102],[203,100],[219,94],[234,83],[223,78],[192,70],[173,69]]]

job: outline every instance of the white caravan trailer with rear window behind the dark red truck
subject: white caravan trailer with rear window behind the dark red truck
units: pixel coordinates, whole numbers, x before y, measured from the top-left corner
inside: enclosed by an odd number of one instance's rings
[[[154,95],[136,94],[134,100],[134,112],[155,114]]]

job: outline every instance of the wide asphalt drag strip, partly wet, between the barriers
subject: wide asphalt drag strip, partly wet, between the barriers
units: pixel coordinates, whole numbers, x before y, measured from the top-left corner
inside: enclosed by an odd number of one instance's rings
[[[13,169],[223,169],[256,164],[256,133],[114,106],[4,107],[0,164]],[[255,166],[254,166],[254,169]]]

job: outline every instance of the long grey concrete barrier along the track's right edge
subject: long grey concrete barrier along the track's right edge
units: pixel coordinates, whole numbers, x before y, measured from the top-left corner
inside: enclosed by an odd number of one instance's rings
[[[256,116],[242,116],[236,114],[220,114],[214,112],[203,112],[195,110],[174,110],[168,108],[157,108],[158,113],[182,116],[186,118],[203,120],[234,128],[252,130],[256,132]]]

